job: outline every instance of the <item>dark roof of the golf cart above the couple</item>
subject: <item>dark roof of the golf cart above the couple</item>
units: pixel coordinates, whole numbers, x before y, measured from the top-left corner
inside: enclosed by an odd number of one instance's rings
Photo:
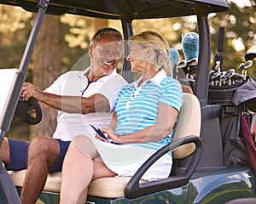
[[[0,3],[38,11],[38,0],[0,0]],[[208,14],[226,11],[226,0],[49,0],[47,14],[134,20]]]

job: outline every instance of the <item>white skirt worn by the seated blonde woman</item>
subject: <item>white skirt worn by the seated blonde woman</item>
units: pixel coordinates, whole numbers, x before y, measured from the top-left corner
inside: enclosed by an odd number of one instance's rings
[[[143,165],[143,162],[147,161],[148,157],[152,156],[156,151],[142,147],[139,144],[112,144],[103,142],[94,137],[88,138],[90,138],[95,145],[105,165],[114,173],[117,173],[118,176],[134,175],[137,169]],[[82,146],[86,148],[85,145]],[[171,172],[171,168],[172,154],[168,153],[161,156],[158,161],[155,161],[154,164],[148,168],[148,171],[143,175],[143,179],[155,180],[167,178]]]

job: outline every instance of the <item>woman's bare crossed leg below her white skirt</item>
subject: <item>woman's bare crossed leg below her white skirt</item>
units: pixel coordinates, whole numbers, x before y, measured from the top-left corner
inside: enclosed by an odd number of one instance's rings
[[[91,140],[77,136],[69,145],[63,162],[60,203],[84,204],[92,179],[114,175],[102,162]]]

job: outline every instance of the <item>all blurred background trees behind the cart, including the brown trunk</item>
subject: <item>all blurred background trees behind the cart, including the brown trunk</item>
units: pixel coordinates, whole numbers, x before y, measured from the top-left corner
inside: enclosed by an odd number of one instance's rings
[[[0,5],[0,68],[18,68],[30,34],[34,14],[21,8]],[[166,37],[170,46],[177,48],[183,59],[182,34],[197,32],[195,16],[160,19],[134,20],[134,32],[153,30]],[[217,54],[218,27],[224,26],[224,70],[237,69],[243,56],[256,52],[256,1],[230,0],[230,11],[211,14],[212,60]],[[167,25],[167,26],[166,26]],[[73,69],[78,59],[86,54],[90,37],[99,27],[113,26],[121,31],[116,20],[96,20],[88,17],[65,14],[44,18],[38,40],[26,71],[26,81],[44,89],[61,73]],[[256,63],[248,71],[256,79]],[[237,71],[237,70],[236,70]],[[30,140],[36,135],[52,135],[55,129],[55,111],[44,113],[44,121],[28,127],[13,122],[7,136]],[[30,129],[32,128],[32,129]],[[30,136],[28,136],[30,135]]]

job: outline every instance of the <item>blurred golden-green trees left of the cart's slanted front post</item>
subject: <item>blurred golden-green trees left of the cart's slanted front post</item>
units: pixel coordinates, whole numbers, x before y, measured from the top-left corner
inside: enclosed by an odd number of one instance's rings
[[[32,13],[0,5],[0,68],[18,68],[26,46]]]

